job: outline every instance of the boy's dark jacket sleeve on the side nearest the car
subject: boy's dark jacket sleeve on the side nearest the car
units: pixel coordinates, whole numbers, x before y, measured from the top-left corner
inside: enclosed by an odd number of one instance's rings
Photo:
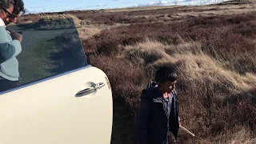
[[[151,99],[142,94],[140,108],[137,117],[137,141],[146,142],[148,126],[150,122]]]

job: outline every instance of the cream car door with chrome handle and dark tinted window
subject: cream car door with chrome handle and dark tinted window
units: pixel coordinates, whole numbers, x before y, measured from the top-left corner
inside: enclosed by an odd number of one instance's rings
[[[70,23],[58,29],[49,22],[9,27],[23,31],[21,79],[0,92],[0,143],[110,143],[110,82],[87,64]]]

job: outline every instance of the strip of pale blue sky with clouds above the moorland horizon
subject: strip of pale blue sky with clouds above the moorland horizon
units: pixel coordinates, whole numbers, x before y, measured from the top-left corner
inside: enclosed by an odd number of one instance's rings
[[[195,5],[201,4],[202,2],[209,4],[212,2],[222,2],[224,0],[23,0],[26,9],[29,10],[30,13],[58,12],[65,10],[99,10],[133,6],[164,6],[174,5],[175,1],[178,2],[178,5]]]

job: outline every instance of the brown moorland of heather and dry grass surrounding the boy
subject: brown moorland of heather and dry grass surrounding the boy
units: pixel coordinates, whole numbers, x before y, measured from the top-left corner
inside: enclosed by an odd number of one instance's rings
[[[88,62],[110,78],[111,143],[135,143],[139,96],[164,65],[178,70],[182,125],[196,134],[180,130],[180,143],[256,143],[255,2],[69,14]]]

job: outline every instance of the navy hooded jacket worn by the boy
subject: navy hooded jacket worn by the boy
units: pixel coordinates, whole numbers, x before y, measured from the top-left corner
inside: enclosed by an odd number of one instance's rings
[[[155,82],[142,90],[141,107],[137,117],[137,141],[146,144],[162,144],[166,141],[168,131],[178,136],[178,97],[172,92],[170,115],[166,114],[164,98]],[[169,118],[168,118],[169,115]]]

